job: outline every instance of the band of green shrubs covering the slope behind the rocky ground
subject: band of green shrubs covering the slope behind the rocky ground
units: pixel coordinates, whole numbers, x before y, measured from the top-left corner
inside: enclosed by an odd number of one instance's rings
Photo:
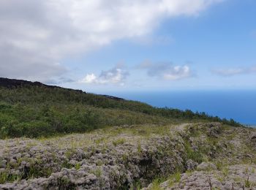
[[[141,102],[49,86],[0,86],[0,138],[48,137],[105,126],[220,121],[206,113],[151,107]]]

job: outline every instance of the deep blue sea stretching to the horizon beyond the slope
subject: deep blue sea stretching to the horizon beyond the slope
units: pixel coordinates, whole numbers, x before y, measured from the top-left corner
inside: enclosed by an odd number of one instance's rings
[[[205,112],[256,126],[256,91],[118,92],[111,95],[145,102],[155,107]]]

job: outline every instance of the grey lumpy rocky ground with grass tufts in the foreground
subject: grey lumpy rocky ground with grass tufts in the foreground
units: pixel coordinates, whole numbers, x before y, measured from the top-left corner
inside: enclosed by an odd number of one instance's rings
[[[118,126],[0,140],[0,189],[256,189],[256,129]]]

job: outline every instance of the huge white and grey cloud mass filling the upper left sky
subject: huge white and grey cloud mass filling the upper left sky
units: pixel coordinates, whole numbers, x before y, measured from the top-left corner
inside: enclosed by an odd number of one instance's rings
[[[0,75],[48,80],[66,56],[150,33],[164,18],[222,0],[1,0]]]

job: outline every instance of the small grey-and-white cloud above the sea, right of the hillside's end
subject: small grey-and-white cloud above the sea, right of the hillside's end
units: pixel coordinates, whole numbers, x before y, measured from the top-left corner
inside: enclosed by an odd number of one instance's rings
[[[150,77],[158,77],[164,80],[181,80],[192,77],[192,72],[188,65],[173,65],[170,63],[152,64],[150,62],[144,62],[137,68],[146,69],[147,75]]]

